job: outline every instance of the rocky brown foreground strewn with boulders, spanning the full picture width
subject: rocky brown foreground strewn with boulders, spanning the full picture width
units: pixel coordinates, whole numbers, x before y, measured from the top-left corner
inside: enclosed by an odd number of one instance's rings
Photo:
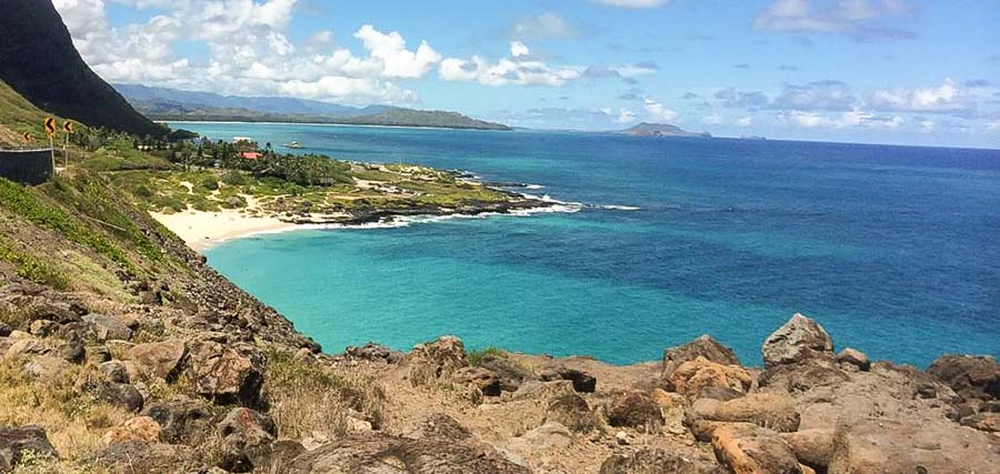
[[[763,370],[702,336],[661,363],[327,355],[270,315],[0,289],[0,471],[121,473],[997,473],[1000,365],[926,372],[796,314]],[[12,315],[17,315],[13,317]]]

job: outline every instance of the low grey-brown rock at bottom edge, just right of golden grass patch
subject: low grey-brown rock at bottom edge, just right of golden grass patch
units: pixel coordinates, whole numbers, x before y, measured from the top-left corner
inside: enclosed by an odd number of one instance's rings
[[[111,472],[122,473],[161,473],[164,468],[171,473],[206,471],[194,450],[188,446],[140,441],[111,443],[96,461]]]

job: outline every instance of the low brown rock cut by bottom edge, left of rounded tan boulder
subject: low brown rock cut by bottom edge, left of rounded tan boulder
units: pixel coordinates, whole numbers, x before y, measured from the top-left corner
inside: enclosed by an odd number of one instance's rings
[[[599,474],[722,474],[714,460],[697,452],[640,450],[614,454],[601,464]]]

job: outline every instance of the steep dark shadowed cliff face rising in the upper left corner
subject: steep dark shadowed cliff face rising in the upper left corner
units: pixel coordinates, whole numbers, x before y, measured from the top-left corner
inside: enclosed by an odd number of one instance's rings
[[[167,131],[80,58],[51,0],[0,0],[0,80],[40,109],[140,135]]]

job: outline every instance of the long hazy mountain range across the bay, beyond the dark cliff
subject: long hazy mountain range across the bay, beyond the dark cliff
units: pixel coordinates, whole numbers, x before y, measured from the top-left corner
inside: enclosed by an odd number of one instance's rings
[[[154,120],[313,122],[357,125],[439,127],[448,129],[510,130],[457,112],[403,109],[389,105],[354,108],[282,97],[238,97],[138,84],[116,84],[136,109]]]

